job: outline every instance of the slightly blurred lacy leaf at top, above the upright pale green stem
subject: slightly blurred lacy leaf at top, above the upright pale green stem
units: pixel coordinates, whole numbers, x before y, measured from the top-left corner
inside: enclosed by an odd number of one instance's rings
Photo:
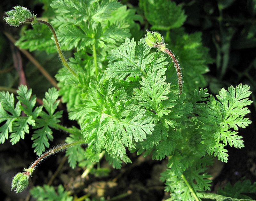
[[[63,47],[67,50],[76,47],[85,50],[92,45],[103,47],[105,43],[116,44],[129,37],[129,30],[118,26],[115,22],[110,24],[108,18],[112,11],[121,6],[117,1],[53,1],[51,6],[57,9],[59,15],[54,24],[60,25],[58,36]],[[60,7],[61,6],[61,7]],[[64,23],[67,20],[73,23]],[[61,23],[61,21],[64,21]],[[107,48],[107,46],[104,46]],[[106,51],[105,49],[104,51]],[[110,51],[110,49],[108,49]],[[91,51],[88,49],[88,51]],[[103,54],[103,52],[101,53]]]

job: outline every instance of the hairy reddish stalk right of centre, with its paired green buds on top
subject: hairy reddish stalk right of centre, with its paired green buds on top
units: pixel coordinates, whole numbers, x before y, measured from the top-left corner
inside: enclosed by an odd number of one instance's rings
[[[161,52],[164,52],[164,53],[167,53],[171,56],[172,58],[172,61],[174,63],[174,66],[176,68],[176,73],[177,73],[177,77],[178,77],[178,84],[179,84],[179,91],[180,91],[180,94],[182,94],[182,74],[181,74],[181,68],[180,68],[180,64],[179,64],[179,61],[177,60],[177,58],[175,57],[175,55],[165,47],[165,44],[164,43],[164,38],[163,36],[154,31],[154,32],[150,32],[147,30],[147,34],[145,36],[145,41],[147,43],[147,45],[149,47],[157,47],[157,50],[161,51]]]

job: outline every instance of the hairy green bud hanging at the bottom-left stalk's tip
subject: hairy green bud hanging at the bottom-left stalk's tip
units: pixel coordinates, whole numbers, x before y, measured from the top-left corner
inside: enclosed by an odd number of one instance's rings
[[[22,172],[14,176],[12,180],[12,190],[14,189],[16,193],[22,192],[28,187],[29,175]]]

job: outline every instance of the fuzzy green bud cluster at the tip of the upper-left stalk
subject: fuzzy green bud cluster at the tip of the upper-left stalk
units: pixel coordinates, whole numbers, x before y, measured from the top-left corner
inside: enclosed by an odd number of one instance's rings
[[[7,17],[4,18],[7,24],[11,26],[19,26],[21,23],[28,20],[33,21],[35,17],[32,13],[23,6],[15,6],[13,10],[6,12]]]

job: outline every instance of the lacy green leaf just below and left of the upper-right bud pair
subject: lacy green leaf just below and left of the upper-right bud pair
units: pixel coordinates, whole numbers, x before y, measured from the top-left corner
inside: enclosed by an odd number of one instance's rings
[[[162,54],[149,54],[149,52],[150,48],[144,39],[141,39],[138,45],[136,45],[134,39],[125,39],[120,47],[109,53],[109,61],[114,62],[108,65],[107,76],[128,81],[128,76],[135,78],[136,76],[145,75],[146,68],[153,72],[164,68],[168,64],[167,61],[164,61],[165,57]]]

